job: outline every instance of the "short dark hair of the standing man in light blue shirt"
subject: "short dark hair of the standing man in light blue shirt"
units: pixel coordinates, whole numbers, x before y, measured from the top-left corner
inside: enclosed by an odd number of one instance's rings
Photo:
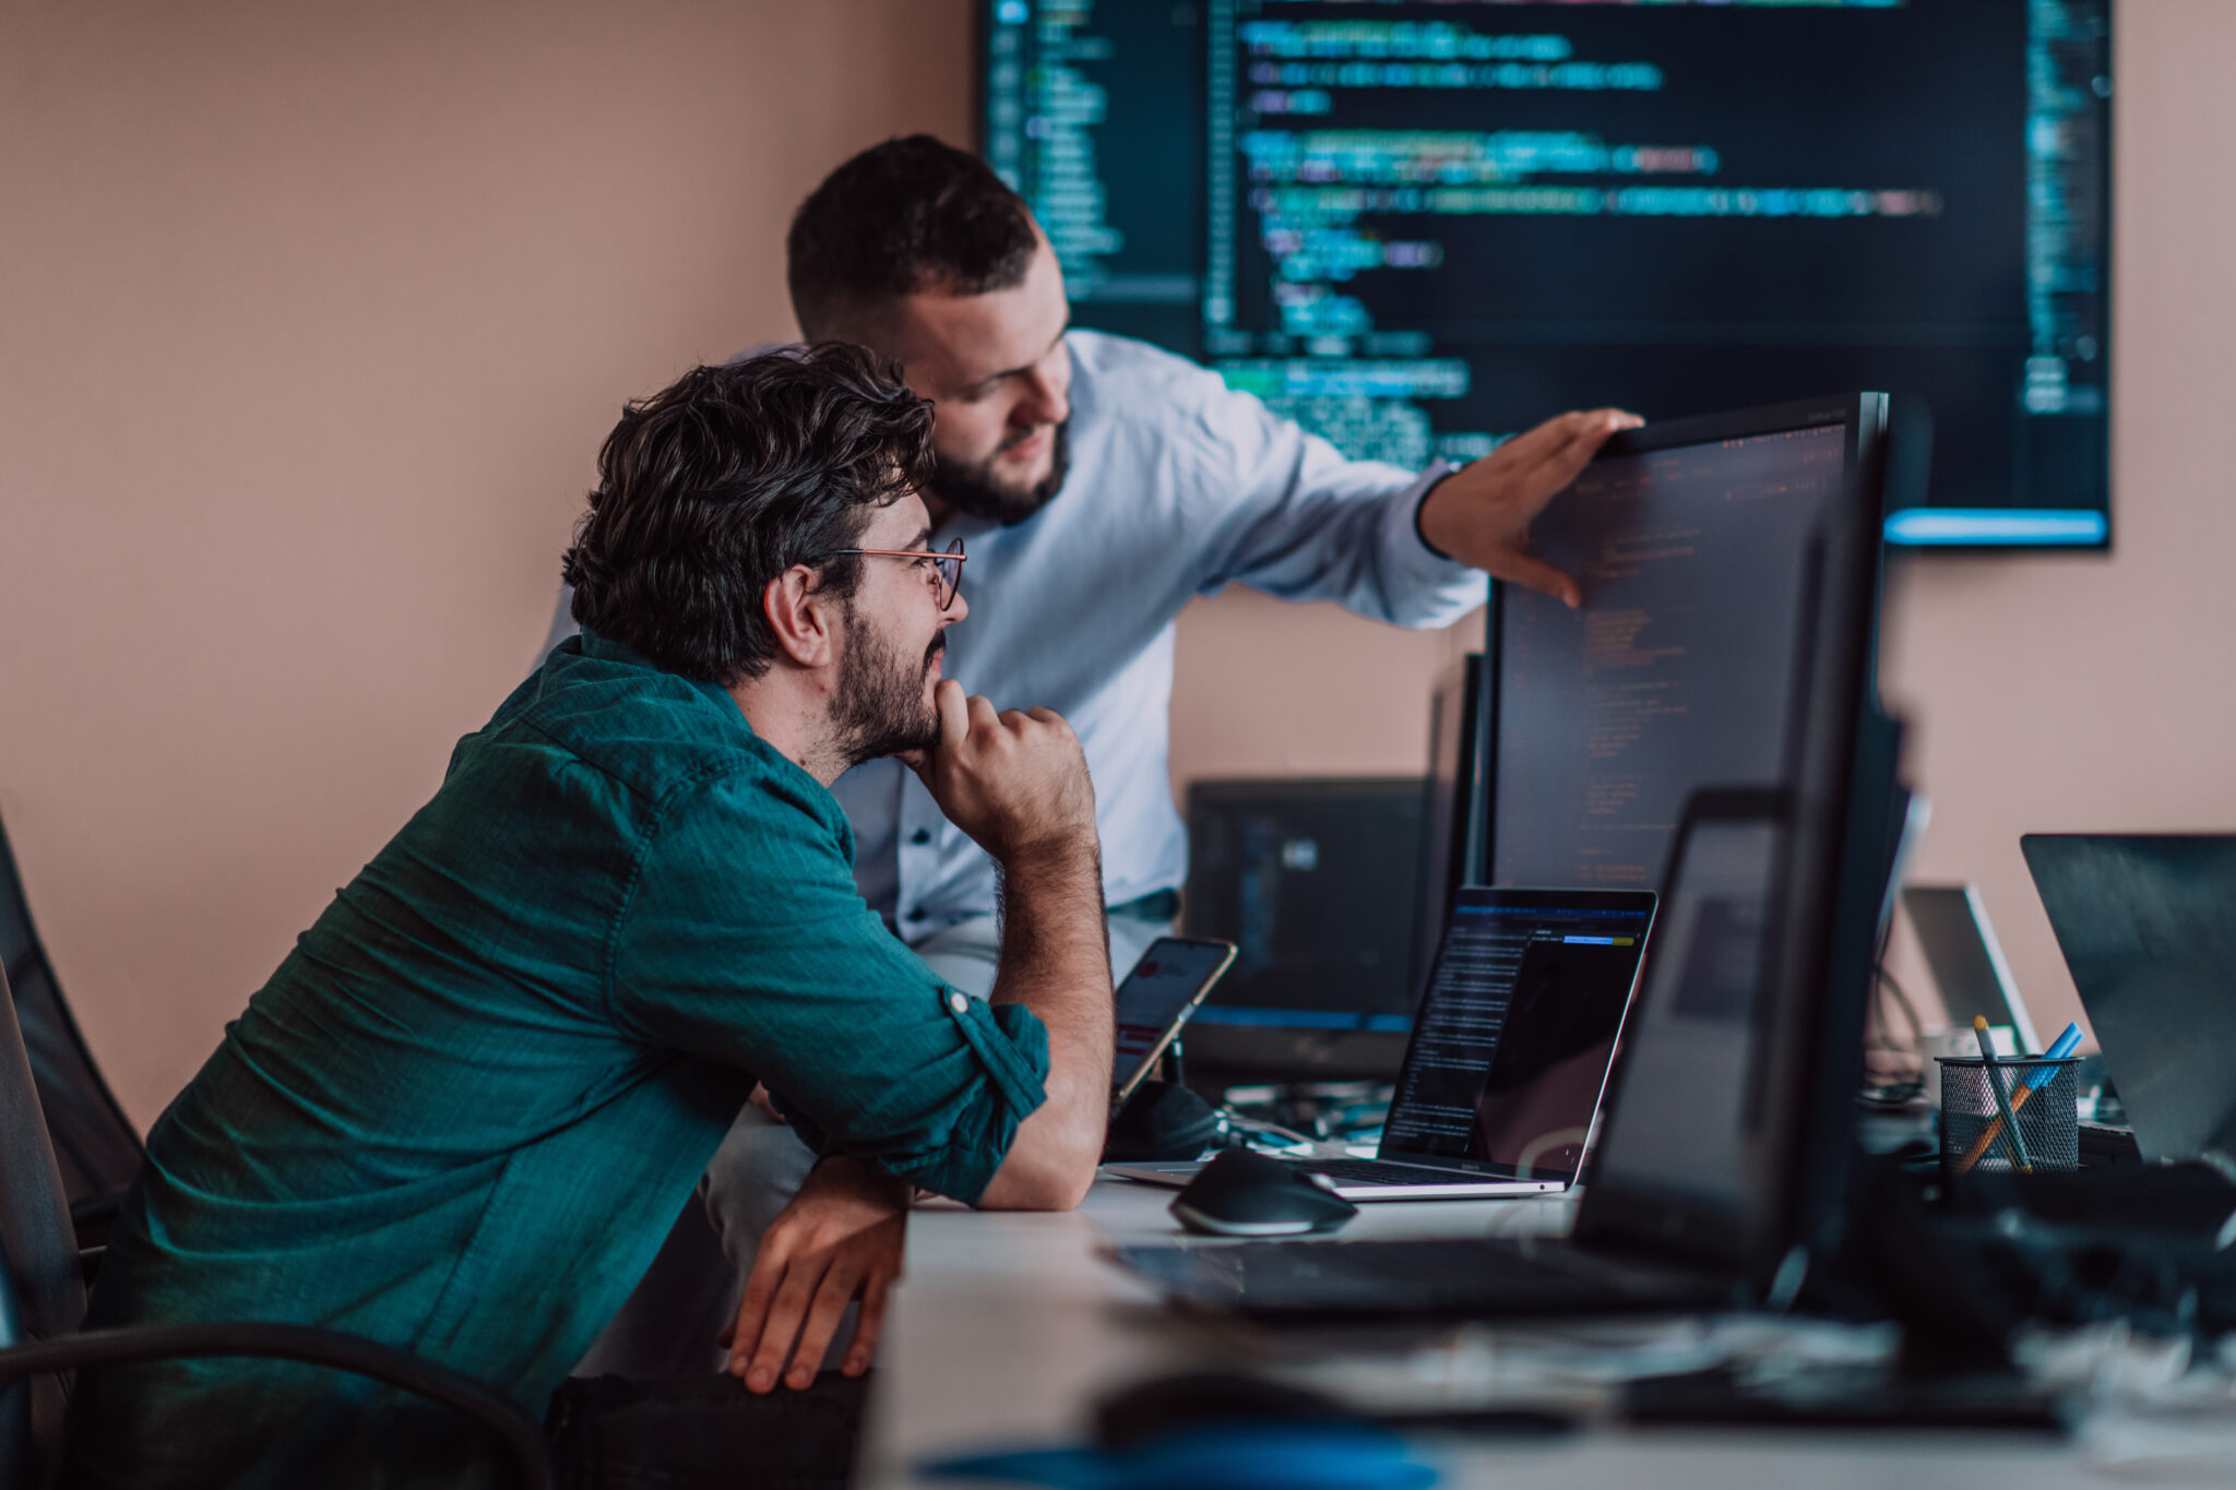
[[[1033,212],[986,161],[930,134],[872,145],[792,219],[785,281],[809,337],[917,290],[984,295],[1024,279]]]

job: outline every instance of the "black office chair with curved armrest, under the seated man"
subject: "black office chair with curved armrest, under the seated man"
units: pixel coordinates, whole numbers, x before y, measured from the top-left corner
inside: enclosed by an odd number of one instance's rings
[[[485,1425],[523,1490],[550,1490],[543,1430],[503,1392],[411,1351],[335,1329],[264,1322],[141,1325],[80,1331],[85,1282],[98,1253],[80,1253],[40,1092],[0,985],[0,1486],[54,1481],[72,1372],[134,1360],[253,1356],[351,1372]]]

